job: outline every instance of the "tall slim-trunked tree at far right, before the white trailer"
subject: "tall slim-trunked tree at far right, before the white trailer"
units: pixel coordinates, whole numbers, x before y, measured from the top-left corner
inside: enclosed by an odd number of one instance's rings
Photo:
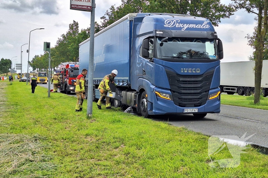
[[[262,61],[264,58],[265,38],[267,34],[267,5],[268,0],[232,0],[237,5],[237,9],[245,9],[248,13],[258,15],[258,25],[256,27],[256,39],[252,44],[255,48],[255,94],[254,104],[260,102],[260,85],[262,79]]]

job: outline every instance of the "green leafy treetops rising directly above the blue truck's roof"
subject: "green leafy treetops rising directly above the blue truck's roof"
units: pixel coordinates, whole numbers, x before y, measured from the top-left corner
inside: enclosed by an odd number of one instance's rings
[[[111,6],[101,19],[105,28],[128,13],[175,13],[204,17],[218,26],[222,18],[229,18],[235,11],[232,4],[226,6],[220,0],[122,0],[122,5]]]

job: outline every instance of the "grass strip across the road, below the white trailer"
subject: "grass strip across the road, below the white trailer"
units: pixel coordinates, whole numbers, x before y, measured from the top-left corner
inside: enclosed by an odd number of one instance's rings
[[[268,110],[268,98],[262,96],[260,97],[260,104],[254,104],[254,96],[222,94],[221,104]]]

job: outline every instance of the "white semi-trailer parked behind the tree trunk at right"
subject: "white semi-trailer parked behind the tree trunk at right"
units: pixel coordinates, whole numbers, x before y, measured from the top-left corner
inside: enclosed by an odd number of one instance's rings
[[[255,61],[221,62],[221,92],[250,95],[255,92]],[[262,93],[268,96],[268,60],[262,66]]]

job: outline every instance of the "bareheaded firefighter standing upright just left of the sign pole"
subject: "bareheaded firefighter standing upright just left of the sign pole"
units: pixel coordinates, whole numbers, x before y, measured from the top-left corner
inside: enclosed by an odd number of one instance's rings
[[[87,69],[83,69],[82,73],[76,78],[75,93],[77,96],[77,102],[75,111],[79,112],[83,109],[83,101],[85,99],[85,76],[87,75]]]

